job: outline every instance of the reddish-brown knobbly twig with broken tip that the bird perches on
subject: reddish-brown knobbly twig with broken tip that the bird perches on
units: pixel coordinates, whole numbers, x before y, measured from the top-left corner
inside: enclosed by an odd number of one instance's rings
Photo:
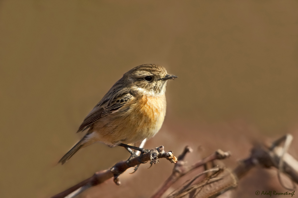
[[[121,175],[125,170],[127,170],[130,167],[134,167],[138,164],[145,163],[147,161],[150,161],[151,164],[156,164],[159,162],[159,158],[166,158],[171,163],[176,163],[177,158],[173,156],[172,151],[164,151],[164,147],[160,146],[157,148],[151,149],[148,153],[145,153],[141,156],[137,156],[129,161],[129,163],[126,163],[126,161],[120,161],[117,164],[115,164],[111,169],[103,170],[96,172],[91,178],[88,178],[80,183],[78,183],[75,186],[72,186],[71,188],[53,196],[52,198],[63,198],[68,196],[69,194],[74,193],[75,195],[83,192],[84,190],[99,185],[100,183],[103,183],[105,180],[108,180],[112,177],[114,177],[114,182],[117,185],[120,185],[120,181],[118,176]],[[80,190],[81,189],[81,190]],[[77,190],[80,190],[79,192],[75,192]],[[71,196],[73,197],[73,196]]]

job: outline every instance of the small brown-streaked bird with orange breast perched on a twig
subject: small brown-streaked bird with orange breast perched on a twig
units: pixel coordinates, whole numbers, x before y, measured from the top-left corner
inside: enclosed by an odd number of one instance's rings
[[[77,132],[88,129],[87,133],[58,163],[64,164],[94,142],[123,146],[130,152],[129,148],[137,149],[128,144],[149,139],[161,128],[166,84],[175,78],[158,64],[142,64],[126,72],[83,120]]]

